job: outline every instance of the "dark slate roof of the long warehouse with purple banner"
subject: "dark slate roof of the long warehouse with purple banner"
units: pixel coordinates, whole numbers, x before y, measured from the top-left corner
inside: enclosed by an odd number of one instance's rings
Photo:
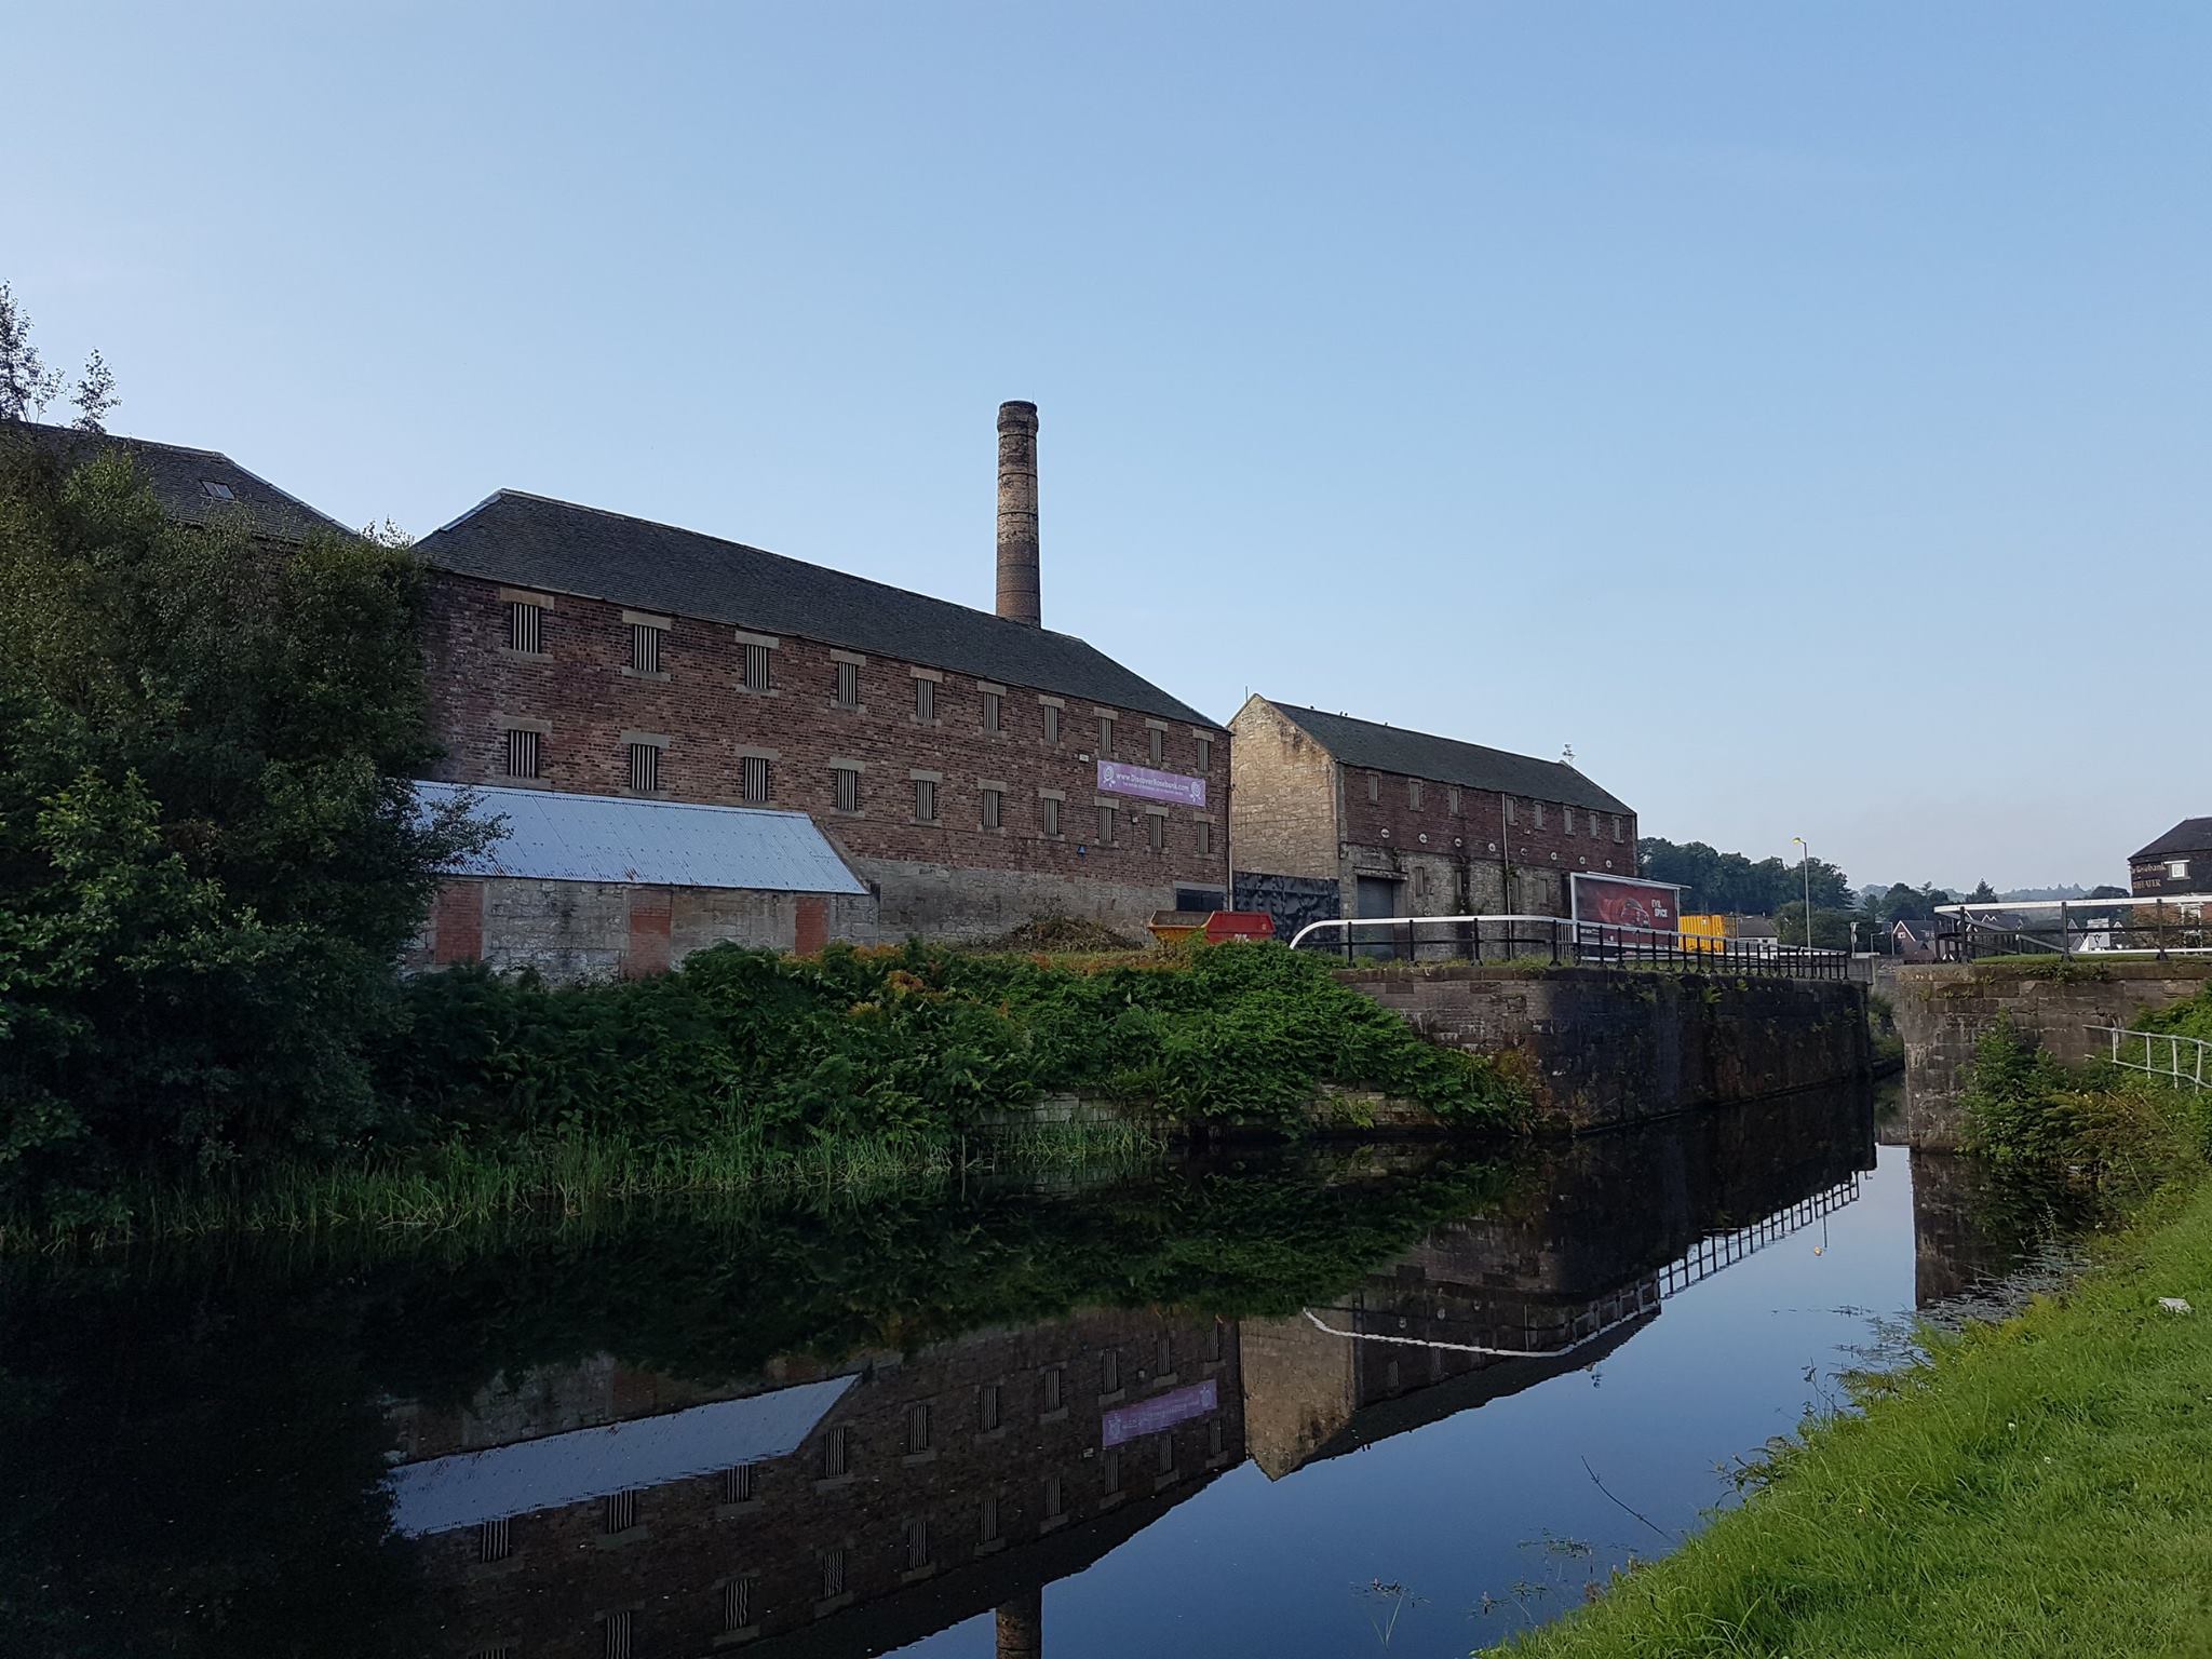
[[[799,635],[1219,730],[1075,635],[597,507],[502,489],[416,551],[456,575]]]

